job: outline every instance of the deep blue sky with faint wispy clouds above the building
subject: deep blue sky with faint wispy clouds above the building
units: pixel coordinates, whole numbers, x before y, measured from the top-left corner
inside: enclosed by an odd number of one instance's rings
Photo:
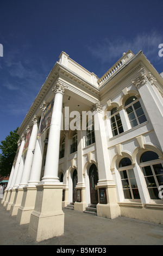
[[[162,0],[5,0],[0,13],[0,142],[21,125],[61,51],[98,77],[129,49],[163,71]]]

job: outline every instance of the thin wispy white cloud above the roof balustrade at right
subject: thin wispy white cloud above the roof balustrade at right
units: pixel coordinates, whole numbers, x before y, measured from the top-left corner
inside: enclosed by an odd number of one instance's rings
[[[132,39],[124,37],[111,39],[105,38],[94,47],[89,46],[89,50],[94,57],[101,61],[101,64],[117,61],[122,57],[123,52],[131,50],[136,54],[140,50],[145,53],[151,62],[159,61],[158,46],[163,41],[162,34],[156,31],[151,33],[141,33]],[[112,63],[114,64],[114,63]]]

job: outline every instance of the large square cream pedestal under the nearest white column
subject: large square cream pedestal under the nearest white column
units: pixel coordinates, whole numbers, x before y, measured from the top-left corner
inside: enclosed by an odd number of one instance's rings
[[[37,185],[35,209],[30,216],[29,235],[37,242],[64,234],[62,185]]]

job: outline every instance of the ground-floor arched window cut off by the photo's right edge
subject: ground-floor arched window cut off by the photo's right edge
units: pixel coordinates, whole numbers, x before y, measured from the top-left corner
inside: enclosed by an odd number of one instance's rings
[[[163,185],[163,168],[158,154],[146,151],[140,157],[140,167],[145,176],[149,196],[151,199],[160,199],[160,186]]]

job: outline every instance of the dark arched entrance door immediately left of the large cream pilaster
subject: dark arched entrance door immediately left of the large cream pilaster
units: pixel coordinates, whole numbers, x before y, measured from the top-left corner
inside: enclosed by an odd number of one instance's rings
[[[95,188],[98,182],[97,167],[92,164],[89,171],[91,204],[98,204],[98,192]]]

